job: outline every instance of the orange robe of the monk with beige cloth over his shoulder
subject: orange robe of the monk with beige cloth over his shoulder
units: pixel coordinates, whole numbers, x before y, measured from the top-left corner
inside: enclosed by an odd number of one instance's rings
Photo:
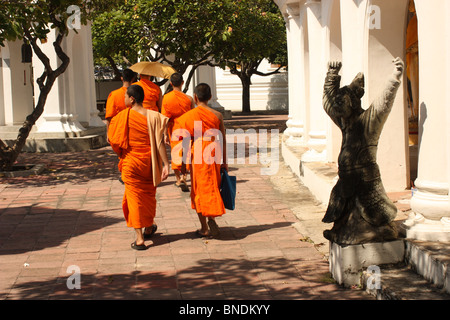
[[[122,209],[131,228],[153,225],[156,187],[153,185],[147,117],[128,108],[111,120],[110,144],[120,156],[119,170],[125,184]]]

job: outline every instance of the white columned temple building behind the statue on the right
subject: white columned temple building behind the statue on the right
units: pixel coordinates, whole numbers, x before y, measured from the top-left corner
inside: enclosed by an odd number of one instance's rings
[[[336,162],[341,133],[322,108],[329,61],[342,61],[341,86],[365,75],[363,108],[381,94],[392,60],[406,64],[384,126],[378,163],[387,191],[417,190],[407,236],[450,240],[450,2],[446,0],[275,0],[285,16],[289,120],[283,156]],[[299,165],[293,165],[299,172]],[[304,177],[303,177],[304,178]],[[307,183],[308,184],[308,183]],[[323,201],[329,188],[309,183]]]

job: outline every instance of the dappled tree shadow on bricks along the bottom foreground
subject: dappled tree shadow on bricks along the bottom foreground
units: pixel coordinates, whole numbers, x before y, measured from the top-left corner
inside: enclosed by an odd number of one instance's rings
[[[202,259],[177,273],[135,270],[131,273],[80,274],[80,289],[71,275],[48,277],[16,284],[7,294],[12,300],[190,300],[190,299],[349,299],[345,291],[317,275],[317,262],[304,261],[299,269],[286,267],[286,258]],[[139,268],[139,266],[137,267]],[[355,297],[356,298],[356,297]],[[167,310],[169,311],[169,310]]]

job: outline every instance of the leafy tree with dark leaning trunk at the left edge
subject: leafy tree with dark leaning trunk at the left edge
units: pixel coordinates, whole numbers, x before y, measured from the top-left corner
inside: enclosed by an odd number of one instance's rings
[[[72,20],[74,12],[67,12],[69,6],[76,5],[80,9],[76,17],[80,18],[81,24],[85,24],[93,13],[101,12],[113,3],[114,1],[106,0],[2,0],[0,44],[3,46],[5,41],[24,39],[31,45],[35,55],[44,65],[44,72],[37,80],[40,93],[35,108],[26,117],[13,145],[8,146],[0,140],[0,170],[12,169],[33,125],[44,111],[48,94],[55,80],[64,73],[70,63],[69,57],[61,47],[70,27],[74,27],[74,22],[77,22]],[[56,32],[53,47],[60,60],[56,68],[51,66],[49,58],[38,45],[38,41],[47,39],[47,35],[52,30]]]

